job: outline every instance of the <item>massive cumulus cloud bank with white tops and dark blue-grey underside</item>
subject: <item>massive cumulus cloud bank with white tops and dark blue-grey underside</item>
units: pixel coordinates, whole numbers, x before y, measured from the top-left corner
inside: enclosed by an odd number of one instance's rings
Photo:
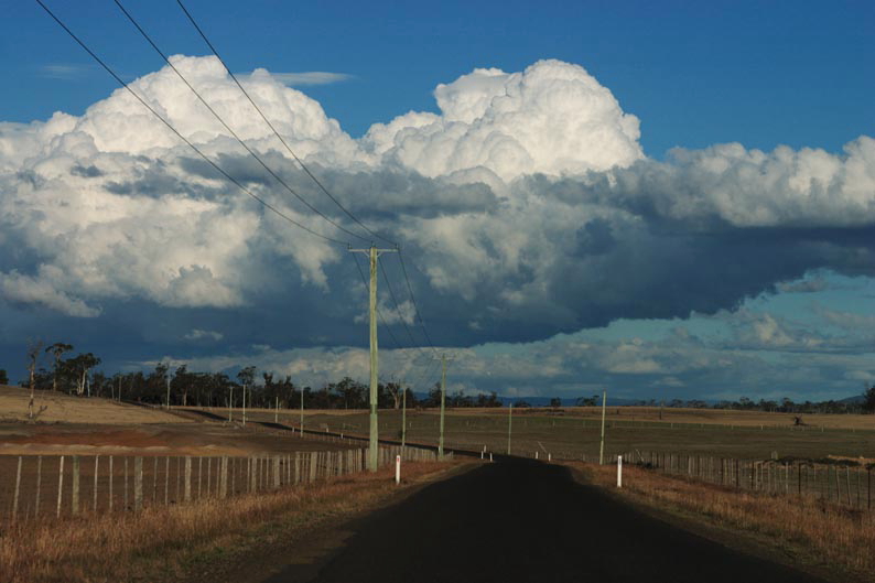
[[[295,192],[365,240],[290,196],[172,71],[132,83],[181,133],[295,220],[356,246],[374,239],[318,193],[218,61],[172,58]],[[840,153],[717,144],[657,161],[608,88],[579,65],[541,61],[517,73],[475,69],[435,88],[436,114],[410,111],[356,140],[288,82],[264,69],[242,79],[338,201],[401,242],[419,307],[444,345],[715,313],[764,291],[802,291],[786,282],[809,272],[875,271],[869,137]],[[9,311],[52,311],[55,323],[148,313],[131,327],[161,343],[191,345],[193,331],[214,327],[236,346],[367,342],[364,287],[343,246],[266,212],[125,90],[79,117],[0,123],[0,197]],[[381,260],[402,313],[382,283],[380,311],[410,344],[399,328],[415,324],[400,264]],[[166,330],[156,314],[172,321]],[[804,348],[802,331],[785,324],[750,322],[744,342]],[[613,347],[605,363],[607,374],[681,378],[648,346]],[[548,369],[560,377],[564,367]]]

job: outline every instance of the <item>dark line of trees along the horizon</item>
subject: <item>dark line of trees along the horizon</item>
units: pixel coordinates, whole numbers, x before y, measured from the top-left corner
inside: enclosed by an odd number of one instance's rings
[[[32,390],[55,390],[80,397],[105,397],[117,400],[137,401],[150,404],[190,407],[240,407],[244,392],[247,407],[294,409],[301,406],[303,393],[304,408],[307,409],[367,409],[369,407],[368,386],[345,377],[337,382],[325,382],[318,388],[300,387],[292,382],[291,376],[276,377],[272,373],[261,373],[253,366],[240,369],[235,378],[226,373],[190,371],[186,365],[171,370],[170,365],[159,363],[151,371],[116,373],[107,375],[95,370],[100,358],[91,353],[72,355],[74,347],[65,343],[45,346],[43,343],[31,343],[28,346],[28,378],[20,385]],[[66,357],[65,357],[66,356]],[[48,358],[48,368],[40,366]],[[9,382],[6,370],[0,369],[0,385]],[[409,407],[438,407],[441,403],[441,388],[435,384],[425,396],[418,396],[409,386],[398,382],[380,382],[378,385],[378,407],[381,409],[401,407],[403,395],[407,393]],[[601,404],[602,397],[581,397],[576,399],[579,407]],[[561,399],[550,400],[550,407],[561,406]],[[447,407],[501,407],[501,399],[495,391],[476,396],[456,391],[445,396]],[[637,406],[670,407],[692,409],[733,409],[739,411],[767,411],[779,413],[875,413],[875,386],[864,391],[855,400],[825,400],[795,402],[784,398],[780,401],[760,399],[754,401],[742,397],[737,401],[723,400],[707,403],[700,399],[656,401],[655,399],[637,401]],[[530,407],[525,400],[518,399],[515,407]]]

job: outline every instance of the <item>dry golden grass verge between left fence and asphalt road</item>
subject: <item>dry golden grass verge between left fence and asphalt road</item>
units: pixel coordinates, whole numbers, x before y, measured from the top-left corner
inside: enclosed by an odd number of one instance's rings
[[[408,463],[402,488],[451,467]],[[252,551],[389,499],[399,492],[391,472],[138,515],[12,525],[0,533],[0,573],[8,583],[214,579]]]

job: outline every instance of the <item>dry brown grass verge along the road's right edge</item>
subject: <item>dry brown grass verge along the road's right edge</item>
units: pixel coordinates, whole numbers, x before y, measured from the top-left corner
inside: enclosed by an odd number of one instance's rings
[[[624,466],[623,489],[616,489],[616,466],[569,465],[619,496],[723,532],[741,533],[750,539],[743,546],[780,555],[802,569],[838,573],[838,580],[847,582],[872,581],[875,573],[875,512],[736,490],[635,466]]]

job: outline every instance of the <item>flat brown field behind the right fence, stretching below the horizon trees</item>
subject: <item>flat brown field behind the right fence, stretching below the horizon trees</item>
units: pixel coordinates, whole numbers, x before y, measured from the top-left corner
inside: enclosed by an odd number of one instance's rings
[[[619,413],[616,408],[611,409],[607,418],[606,455],[639,450],[747,460],[766,460],[775,452],[779,456],[808,458],[875,457],[875,415],[803,417],[807,424],[793,427],[792,415],[778,413],[734,412],[733,415],[730,414],[733,411],[678,410],[669,415],[663,410],[660,422],[658,408],[618,409]],[[568,411],[553,414],[545,409],[520,411],[515,411],[511,422],[511,453],[534,456],[539,452],[540,456],[577,460],[598,455],[601,418],[595,409],[577,409],[572,414]],[[298,425],[298,415],[296,411],[280,410],[278,418],[280,423]],[[272,421],[273,412],[257,412],[253,417]],[[436,410],[408,411],[407,421],[408,442],[438,443]],[[400,411],[381,410],[379,422],[381,438],[399,439]],[[364,411],[310,411],[304,423],[309,429],[327,428],[332,432],[366,435],[368,415]],[[507,409],[450,410],[444,423],[447,447],[477,452],[486,446],[487,453],[507,451]]]

